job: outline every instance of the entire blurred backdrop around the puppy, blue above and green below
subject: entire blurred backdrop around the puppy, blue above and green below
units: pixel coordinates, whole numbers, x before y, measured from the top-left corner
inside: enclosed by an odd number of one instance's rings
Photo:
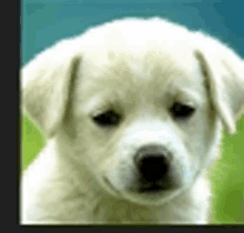
[[[204,2],[204,3],[203,3]],[[55,40],[83,32],[88,27],[114,18],[161,16],[202,29],[234,48],[244,58],[244,1],[217,0],[23,0],[21,61]],[[232,9],[232,10],[230,10]],[[241,23],[240,23],[241,22]],[[22,118],[22,169],[44,146],[44,136]],[[237,135],[223,132],[222,159],[211,169],[212,223],[244,223],[244,119]]]

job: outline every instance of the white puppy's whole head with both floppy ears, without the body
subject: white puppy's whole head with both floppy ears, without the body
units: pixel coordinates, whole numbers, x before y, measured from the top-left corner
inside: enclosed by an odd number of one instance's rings
[[[235,130],[243,73],[241,58],[206,36],[128,19],[31,61],[22,70],[23,105],[49,136],[68,135],[108,192],[161,204],[213,159],[221,120]]]

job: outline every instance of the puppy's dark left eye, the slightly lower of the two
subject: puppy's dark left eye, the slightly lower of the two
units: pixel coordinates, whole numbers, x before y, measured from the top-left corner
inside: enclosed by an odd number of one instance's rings
[[[112,126],[120,122],[120,115],[113,110],[109,110],[93,118],[93,121],[100,126]]]

